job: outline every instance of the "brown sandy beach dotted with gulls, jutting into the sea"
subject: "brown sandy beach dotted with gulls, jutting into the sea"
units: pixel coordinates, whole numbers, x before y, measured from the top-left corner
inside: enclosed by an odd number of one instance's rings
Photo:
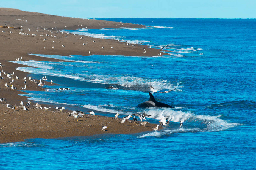
[[[118,42],[116,40],[97,39],[66,33],[62,34],[60,32],[60,30],[63,29],[142,28],[144,26],[102,20],[68,18],[8,8],[0,8],[0,17],[0,62],[3,65],[1,70],[5,73],[15,73],[13,75],[13,86],[17,89],[10,89],[11,83],[9,82],[12,78],[8,78],[1,72],[3,79],[0,80],[0,98],[5,98],[6,101],[2,101],[0,104],[0,143],[18,142],[27,138],[58,138],[88,136],[102,133],[139,133],[151,131],[152,127],[156,126],[155,124],[147,124],[143,127],[139,126],[138,123],[132,122],[125,122],[124,125],[121,125],[121,119],[116,120],[112,117],[99,116],[97,113],[95,116],[86,114],[83,118],[79,118],[79,121],[76,121],[74,117],[68,117],[72,111],[65,110],[65,112],[60,112],[55,111],[54,108],[48,111],[36,109],[32,107],[35,102],[31,103],[28,111],[25,111],[20,105],[20,101],[22,100],[24,104],[26,104],[26,97],[18,95],[24,93],[19,91],[21,87],[25,85],[24,77],[27,77],[26,90],[43,90],[43,88],[34,82],[30,82],[27,73],[15,70],[16,67],[20,66],[19,64],[7,62],[9,60],[15,61],[21,58],[21,56],[23,61],[59,61],[51,58],[28,55],[30,53],[63,56],[88,56],[93,54],[131,56],[159,55],[160,52],[158,49],[149,49],[149,47],[144,45],[132,47],[132,44],[127,45],[127,43],[125,43],[124,45],[124,42]],[[44,41],[44,39],[46,40]],[[53,46],[54,48],[52,48]],[[102,49],[102,47],[104,47],[104,49]],[[147,53],[143,53],[143,48],[147,48]],[[164,54],[163,51],[161,51],[161,53]],[[19,77],[18,80],[15,79],[16,76]],[[37,81],[39,82],[39,80]],[[5,83],[10,87],[6,88]],[[46,82],[46,85],[50,85],[50,83]],[[15,109],[7,108],[6,104],[13,105]],[[106,131],[102,131],[101,127],[105,125],[107,125],[108,128]]]

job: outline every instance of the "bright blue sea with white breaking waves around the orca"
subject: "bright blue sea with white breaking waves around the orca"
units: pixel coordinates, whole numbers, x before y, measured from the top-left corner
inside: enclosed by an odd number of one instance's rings
[[[168,55],[53,56],[65,62],[19,61],[33,78],[58,83],[29,100],[114,116],[170,117],[158,132],[26,139],[0,144],[1,169],[255,169],[256,20],[106,18],[143,29],[64,30],[166,48]],[[149,48],[146,50],[150,50]],[[17,61],[10,61],[17,62]],[[34,67],[26,67],[34,66]],[[115,80],[118,90],[105,87]],[[141,109],[149,85],[174,108]],[[71,90],[56,91],[69,87]],[[179,122],[183,122],[180,128]]]

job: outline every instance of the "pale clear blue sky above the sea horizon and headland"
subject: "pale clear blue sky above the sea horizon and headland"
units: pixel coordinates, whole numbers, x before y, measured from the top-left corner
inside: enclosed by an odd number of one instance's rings
[[[256,18],[256,0],[1,0],[0,7],[79,18]]]

